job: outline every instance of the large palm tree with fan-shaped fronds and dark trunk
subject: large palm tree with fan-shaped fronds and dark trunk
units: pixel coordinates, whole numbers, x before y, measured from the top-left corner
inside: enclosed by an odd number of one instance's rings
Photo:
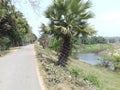
[[[50,20],[49,33],[62,39],[58,65],[65,66],[67,64],[72,37],[95,33],[93,29],[88,29],[87,20],[93,17],[93,14],[88,11],[90,7],[89,1],[54,0],[53,4],[46,10],[46,17]]]

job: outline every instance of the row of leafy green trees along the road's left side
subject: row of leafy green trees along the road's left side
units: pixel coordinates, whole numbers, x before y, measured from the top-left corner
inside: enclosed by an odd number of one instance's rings
[[[0,50],[36,40],[27,20],[11,0],[0,0]]]

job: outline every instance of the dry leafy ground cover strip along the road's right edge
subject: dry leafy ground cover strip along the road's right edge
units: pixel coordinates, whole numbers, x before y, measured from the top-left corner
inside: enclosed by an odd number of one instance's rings
[[[40,45],[36,45],[35,49],[47,90],[95,90],[92,83],[100,86],[100,81],[94,75],[81,78],[80,70],[71,66],[74,60],[71,59],[66,67],[61,67],[57,65],[57,53],[54,50],[43,49]],[[90,78],[93,82],[89,81]]]

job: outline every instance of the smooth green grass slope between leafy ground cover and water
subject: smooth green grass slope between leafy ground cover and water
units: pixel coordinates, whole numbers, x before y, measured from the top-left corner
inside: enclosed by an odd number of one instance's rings
[[[120,90],[120,73],[102,67],[91,66],[77,60],[71,60],[68,68],[71,71],[77,68],[76,72],[79,73],[77,75],[91,81],[101,90]]]

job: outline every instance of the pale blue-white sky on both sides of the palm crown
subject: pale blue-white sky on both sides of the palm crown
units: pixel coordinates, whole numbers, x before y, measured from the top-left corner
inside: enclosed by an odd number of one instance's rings
[[[38,3],[31,6],[29,1]],[[120,36],[120,0],[90,0],[91,11],[94,18],[89,23],[94,26],[98,36],[110,37]],[[44,11],[52,0],[14,0],[17,10],[21,11],[27,19],[32,31],[39,36],[41,23],[48,23]]]

